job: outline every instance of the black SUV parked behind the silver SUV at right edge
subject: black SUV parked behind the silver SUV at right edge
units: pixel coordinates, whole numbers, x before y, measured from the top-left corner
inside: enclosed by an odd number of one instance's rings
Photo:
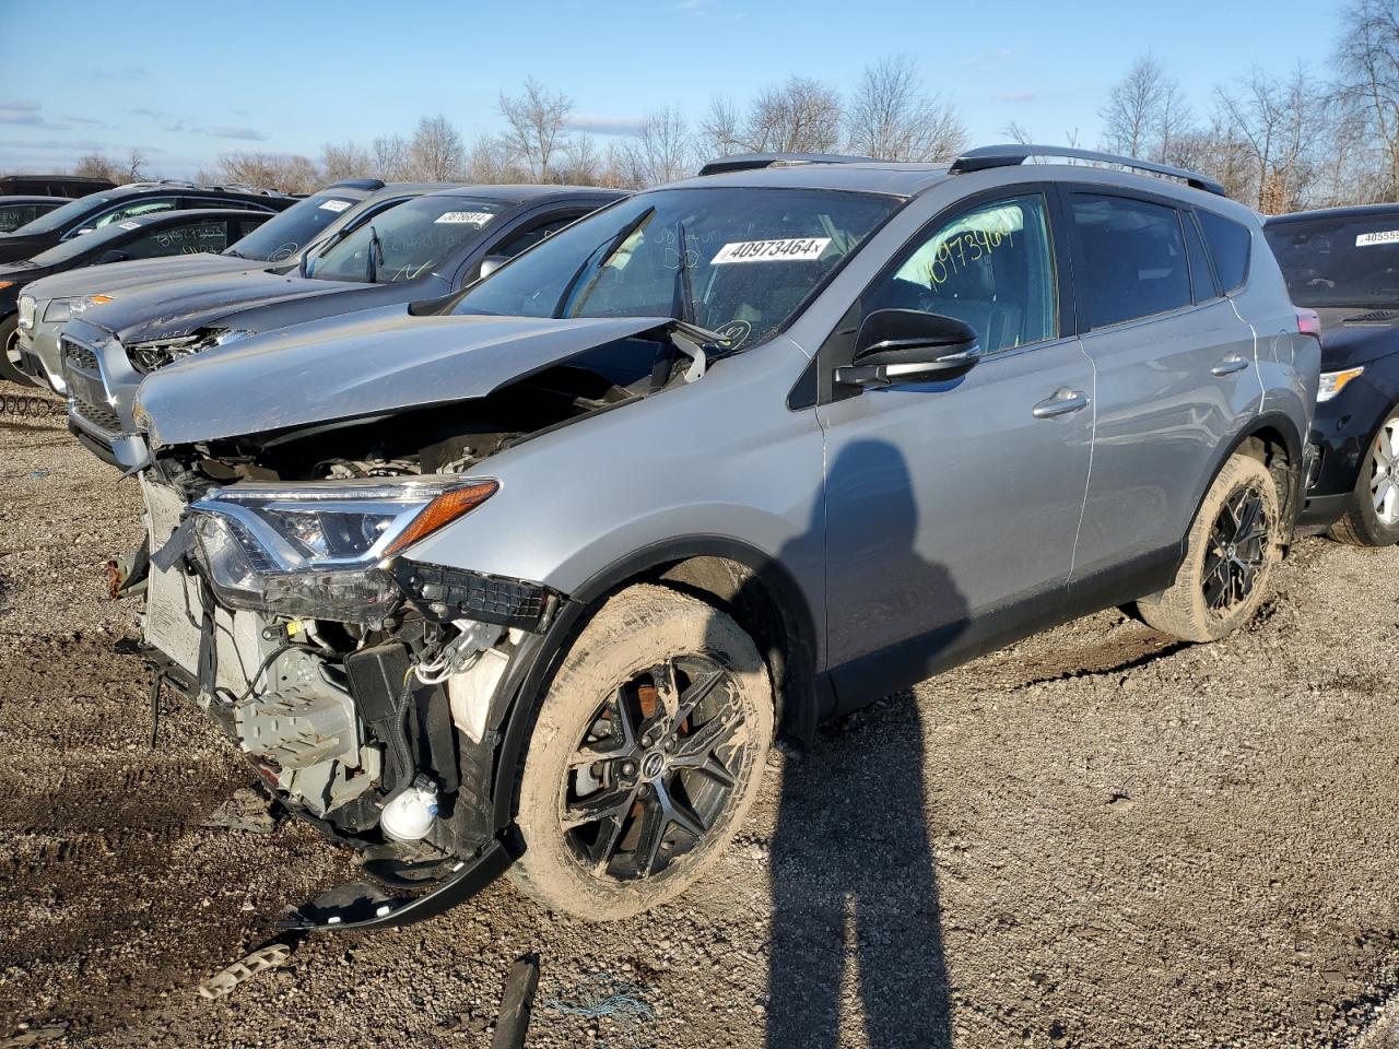
[[[1316,311],[1322,376],[1300,524],[1399,543],[1399,204],[1269,218],[1293,302]]]

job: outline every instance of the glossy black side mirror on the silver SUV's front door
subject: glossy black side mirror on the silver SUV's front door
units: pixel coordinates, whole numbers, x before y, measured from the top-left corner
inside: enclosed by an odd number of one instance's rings
[[[919,309],[876,309],[855,337],[855,361],[835,369],[842,386],[937,382],[965,373],[981,354],[971,324]]]

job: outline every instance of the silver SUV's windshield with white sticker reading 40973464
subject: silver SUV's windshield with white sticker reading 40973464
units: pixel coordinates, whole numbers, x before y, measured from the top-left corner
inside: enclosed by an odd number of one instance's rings
[[[448,312],[680,317],[739,348],[782,329],[898,204],[831,190],[642,193],[530,249]]]

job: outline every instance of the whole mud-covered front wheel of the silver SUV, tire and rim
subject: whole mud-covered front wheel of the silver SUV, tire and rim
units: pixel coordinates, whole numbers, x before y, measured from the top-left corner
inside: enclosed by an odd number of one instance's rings
[[[519,783],[511,878],[551,911],[628,918],[727,846],[758,792],[772,685],[757,646],[660,586],[613,597],[544,698]]]

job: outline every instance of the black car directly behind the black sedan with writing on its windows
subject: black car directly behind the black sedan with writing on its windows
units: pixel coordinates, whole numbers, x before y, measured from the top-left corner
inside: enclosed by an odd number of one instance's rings
[[[64,204],[13,234],[0,234],[0,263],[31,259],[46,248],[123,218],[192,207],[285,211],[297,197],[249,186],[196,186],[193,182],[133,182]]]

